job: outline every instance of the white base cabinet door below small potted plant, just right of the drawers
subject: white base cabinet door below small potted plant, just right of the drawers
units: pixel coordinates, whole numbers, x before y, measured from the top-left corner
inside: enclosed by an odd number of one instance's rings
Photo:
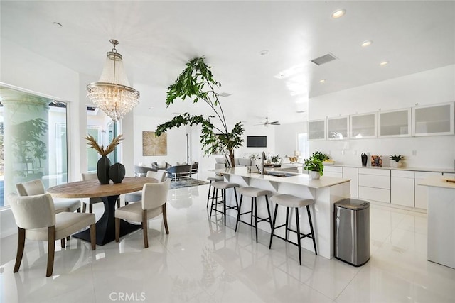
[[[414,172],[408,170],[390,172],[390,203],[414,207]]]

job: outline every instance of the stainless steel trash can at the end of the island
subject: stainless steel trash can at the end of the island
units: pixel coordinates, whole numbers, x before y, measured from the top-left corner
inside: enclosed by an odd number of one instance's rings
[[[361,266],[370,260],[370,203],[343,199],[334,204],[335,258]]]

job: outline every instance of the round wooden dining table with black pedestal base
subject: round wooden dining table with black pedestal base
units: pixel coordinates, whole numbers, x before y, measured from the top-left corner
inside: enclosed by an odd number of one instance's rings
[[[93,198],[100,197],[105,205],[105,212],[96,222],[97,245],[105,245],[115,239],[115,202],[120,194],[142,190],[146,183],[158,182],[154,178],[125,177],[122,183],[100,184],[97,179],[69,182],[48,188],[48,193],[55,198]],[[120,236],[141,228],[139,224],[120,221]],[[87,229],[73,235],[90,242],[90,231]]]

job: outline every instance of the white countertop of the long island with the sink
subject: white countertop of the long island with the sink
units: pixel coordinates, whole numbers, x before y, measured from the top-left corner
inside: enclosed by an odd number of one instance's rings
[[[267,172],[267,168],[265,170]],[[291,177],[276,177],[273,175],[261,175],[258,172],[247,172],[247,167],[234,167],[234,168],[226,168],[215,170],[217,174],[223,175],[237,175],[240,177],[250,178],[250,179],[260,179],[260,180],[267,180],[269,182],[279,182],[279,183],[288,183],[288,184],[296,184],[302,185],[309,188],[320,189],[323,187],[331,187],[336,184],[341,184],[345,182],[349,182],[350,179],[345,178],[336,178],[336,177],[328,177],[322,176],[321,179],[311,179],[309,175],[306,174],[298,174],[293,172],[283,172],[285,175],[292,175]],[[273,171],[277,173],[277,170]]]

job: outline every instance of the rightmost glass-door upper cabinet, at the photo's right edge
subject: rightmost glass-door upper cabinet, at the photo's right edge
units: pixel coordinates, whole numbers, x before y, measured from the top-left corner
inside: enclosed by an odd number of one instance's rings
[[[454,134],[454,103],[412,108],[412,136]]]

